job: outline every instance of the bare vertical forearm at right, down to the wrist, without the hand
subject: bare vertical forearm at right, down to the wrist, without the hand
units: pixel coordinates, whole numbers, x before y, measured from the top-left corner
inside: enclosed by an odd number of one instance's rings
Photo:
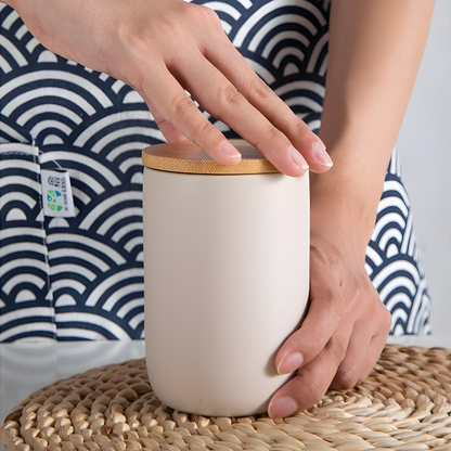
[[[353,222],[361,248],[372,233],[433,5],[433,0],[332,1],[320,137],[334,167],[311,177],[312,228],[317,217],[328,216],[335,228],[340,218]]]

